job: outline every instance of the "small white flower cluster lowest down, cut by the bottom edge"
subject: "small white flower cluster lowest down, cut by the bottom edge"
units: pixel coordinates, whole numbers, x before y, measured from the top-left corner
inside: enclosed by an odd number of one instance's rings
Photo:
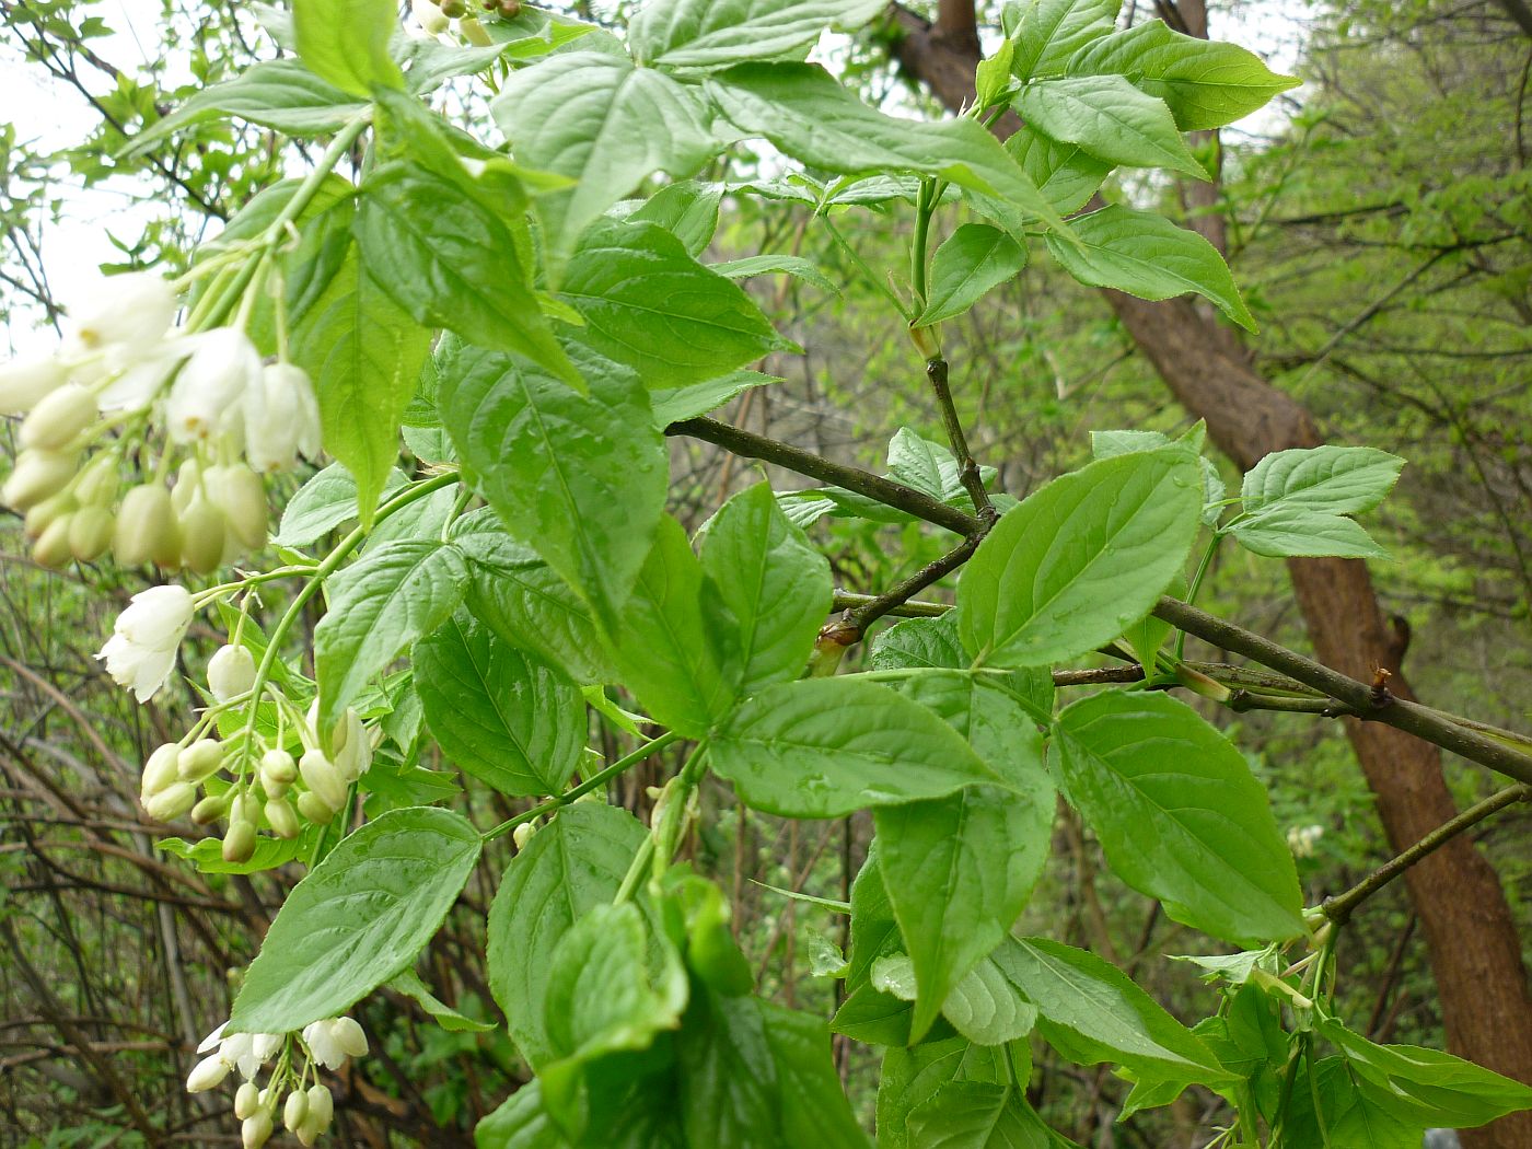
[[[260,1149],[282,1126],[303,1144],[314,1144],[334,1120],[336,1105],[329,1089],[319,1082],[319,1066],[339,1069],[348,1057],[362,1057],[368,1039],[351,1017],[328,1017],[303,1028],[302,1034],[237,1033],[224,1036],[228,1022],[202,1039],[205,1054],[187,1077],[188,1092],[205,1092],[224,1083],[231,1072],[244,1079],[234,1092],[244,1149]],[[302,1057],[303,1065],[296,1062]],[[257,1083],[264,1066],[276,1065],[265,1088]],[[314,1079],[308,1085],[309,1077]],[[283,1102],[283,1094],[286,1100]]]

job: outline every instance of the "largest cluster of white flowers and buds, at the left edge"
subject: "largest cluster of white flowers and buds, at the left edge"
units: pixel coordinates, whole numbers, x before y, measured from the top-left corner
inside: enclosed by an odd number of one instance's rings
[[[0,415],[26,415],[0,501],[43,565],[110,548],[207,574],[265,545],[262,475],[319,455],[308,375],[239,328],[173,328],[176,308],[170,280],[113,276],[69,308],[54,354],[0,366]]]

